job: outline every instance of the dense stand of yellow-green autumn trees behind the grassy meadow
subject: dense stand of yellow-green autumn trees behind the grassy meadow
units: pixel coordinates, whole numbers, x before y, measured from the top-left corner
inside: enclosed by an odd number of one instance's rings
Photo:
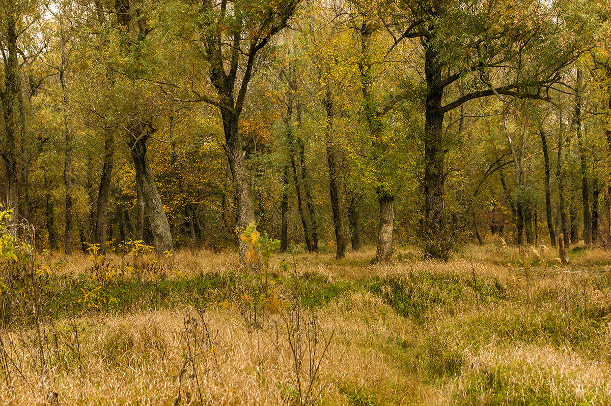
[[[608,244],[606,1],[0,0],[36,244]],[[11,224],[9,224],[9,230]]]

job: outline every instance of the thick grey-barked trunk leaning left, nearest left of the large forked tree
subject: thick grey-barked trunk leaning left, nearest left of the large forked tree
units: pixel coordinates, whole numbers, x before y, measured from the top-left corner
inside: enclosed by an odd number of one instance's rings
[[[159,253],[172,250],[172,233],[167,222],[166,212],[155,184],[155,178],[148,167],[147,129],[133,130],[139,134],[135,142],[130,143],[130,154],[136,169],[136,183],[142,191],[142,201],[147,213],[148,222],[153,233],[153,244]]]

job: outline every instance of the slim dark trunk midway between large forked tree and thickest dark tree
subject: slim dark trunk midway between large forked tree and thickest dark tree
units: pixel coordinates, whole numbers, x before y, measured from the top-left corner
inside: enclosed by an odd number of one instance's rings
[[[346,255],[346,243],[343,236],[342,214],[340,212],[339,188],[337,185],[337,162],[335,156],[335,143],[332,141],[333,131],[333,102],[331,91],[326,92],[324,108],[327,113],[327,125],[325,128],[325,149],[327,152],[327,164],[329,165],[329,192],[331,194],[331,212],[333,215],[333,227],[335,229],[335,244],[337,251],[335,258],[341,259]]]

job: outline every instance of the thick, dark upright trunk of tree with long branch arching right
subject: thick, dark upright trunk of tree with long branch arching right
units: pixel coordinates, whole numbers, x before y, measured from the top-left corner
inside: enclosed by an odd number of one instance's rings
[[[430,32],[433,31],[434,29],[430,27]],[[445,218],[441,70],[436,46],[430,43],[425,49],[425,76],[428,89],[424,124],[425,255],[447,261],[452,241],[447,232]]]

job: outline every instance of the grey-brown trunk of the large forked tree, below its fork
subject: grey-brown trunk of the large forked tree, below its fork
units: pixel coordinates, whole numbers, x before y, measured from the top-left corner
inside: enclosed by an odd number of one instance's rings
[[[229,169],[233,177],[233,198],[235,199],[236,236],[238,237],[238,251],[240,263],[246,264],[247,246],[240,240],[246,227],[254,222],[255,212],[252,207],[250,174],[244,160],[242,137],[238,130],[238,116],[226,109],[221,109],[223,129],[225,132],[225,153],[229,160]]]

